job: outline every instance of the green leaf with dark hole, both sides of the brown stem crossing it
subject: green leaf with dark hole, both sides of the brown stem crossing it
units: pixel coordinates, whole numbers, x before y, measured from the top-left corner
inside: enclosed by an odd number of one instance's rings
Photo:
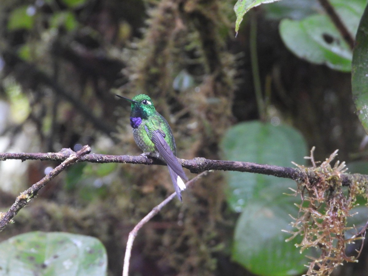
[[[353,36],[365,3],[367,0],[331,1]],[[328,15],[314,14],[300,21],[284,19],[280,22],[280,35],[290,51],[301,59],[350,72],[352,51]]]

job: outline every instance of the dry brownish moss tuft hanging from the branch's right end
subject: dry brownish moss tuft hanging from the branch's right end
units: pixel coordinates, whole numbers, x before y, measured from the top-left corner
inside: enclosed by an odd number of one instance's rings
[[[344,261],[357,262],[357,256],[347,256],[345,249],[349,243],[362,239],[360,235],[351,238],[345,237],[345,232],[351,227],[347,227],[347,217],[352,216],[350,210],[354,207],[357,195],[364,191],[359,188],[359,184],[343,187],[341,174],[347,169],[345,162],[336,161],[332,166],[331,162],[337,155],[337,150],[328,159],[317,166],[314,161],[314,148],[311,150],[312,167],[297,165],[305,170],[308,177],[304,181],[298,182],[297,194],[301,195],[301,204],[296,204],[299,208],[299,216],[293,218],[291,223],[296,231],[287,231],[294,237],[302,236],[300,244],[301,252],[307,248],[316,248],[320,253],[317,258],[311,258],[306,275],[330,275],[337,266]],[[357,237],[359,236],[359,237]]]

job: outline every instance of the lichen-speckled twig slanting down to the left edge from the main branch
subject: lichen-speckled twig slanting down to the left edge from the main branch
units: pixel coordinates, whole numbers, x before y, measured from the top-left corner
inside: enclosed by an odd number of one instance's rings
[[[76,163],[82,156],[86,155],[87,153],[91,152],[91,147],[88,145],[83,146],[83,148],[78,152],[70,153],[69,157],[53,169],[49,174],[43,177],[40,181],[33,184],[31,188],[22,192],[17,199],[15,199],[14,204],[10,207],[10,209],[0,214],[0,231],[4,229],[6,224],[12,221],[12,218],[17,215],[20,209],[22,209],[27,202],[37,195],[37,192],[45,186],[50,180],[52,180],[55,176],[57,176],[61,171],[65,170],[71,164]]]

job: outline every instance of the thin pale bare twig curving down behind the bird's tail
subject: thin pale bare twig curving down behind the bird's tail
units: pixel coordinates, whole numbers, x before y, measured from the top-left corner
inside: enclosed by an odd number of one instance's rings
[[[197,181],[199,178],[205,176],[208,173],[208,171],[204,171],[200,174],[198,174],[196,177],[189,180],[186,185],[191,186],[195,181]],[[174,197],[176,197],[176,192],[172,193],[169,197],[167,197],[164,201],[162,201],[159,205],[155,206],[151,212],[149,212],[140,222],[137,223],[137,225],[133,228],[132,231],[130,231],[127,241],[127,248],[125,249],[125,256],[124,256],[124,266],[123,266],[123,276],[128,276],[129,273],[129,263],[130,263],[130,255],[132,251],[132,246],[135,237],[137,237],[139,229],[144,226],[149,220],[152,219],[155,215],[157,215],[160,210],[168,204]]]

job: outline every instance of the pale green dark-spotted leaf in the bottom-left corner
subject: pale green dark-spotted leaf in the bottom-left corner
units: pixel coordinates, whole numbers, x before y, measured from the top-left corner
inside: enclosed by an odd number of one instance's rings
[[[105,247],[94,237],[30,232],[0,243],[0,271],[8,276],[101,276],[106,270]]]

